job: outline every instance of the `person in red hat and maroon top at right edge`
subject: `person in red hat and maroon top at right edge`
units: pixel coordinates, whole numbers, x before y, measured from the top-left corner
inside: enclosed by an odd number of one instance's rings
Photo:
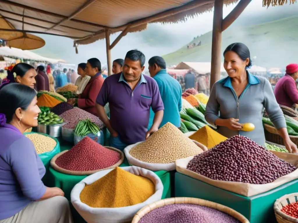
[[[298,104],[298,90],[295,81],[298,78],[298,64],[289,64],[285,73],[285,76],[277,81],[274,95],[277,103],[295,109],[295,104]]]

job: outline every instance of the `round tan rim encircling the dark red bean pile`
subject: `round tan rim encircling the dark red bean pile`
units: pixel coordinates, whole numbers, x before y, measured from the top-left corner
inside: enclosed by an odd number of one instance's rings
[[[104,168],[104,169],[97,169],[97,170],[93,170],[93,171],[72,171],[72,170],[63,169],[61,167],[58,167],[57,164],[55,163],[56,159],[59,156],[61,156],[63,153],[66,153],[68,150],[64,150],[63,152],[56,154],[51,159],[51,166],[56,171],[61,172],[61,173],[65,173],[65,174],[69,174],[69,175],[91,175],[91,174],[94,174],[94,173],[96,173],[98,171],[103,171],[103,170],[107,170],[107,169],[114,169],[116,167],[119,167],[122,164],[123,160],[124,160],[124,154],[122,153],[122,151],[120,151],[120,150],[118,150],[118,149],[116,149],[114,147],[109,147],[109,146],[104,146],[104,147],[107,148],[107,149],[110,149],[110,150],[114,150],[114,151],[116,151],[116,152],[118,152],[118,153],[121,154],[120,160],[116,164],[114,164],[113,166],[111,166],[111,167]]]

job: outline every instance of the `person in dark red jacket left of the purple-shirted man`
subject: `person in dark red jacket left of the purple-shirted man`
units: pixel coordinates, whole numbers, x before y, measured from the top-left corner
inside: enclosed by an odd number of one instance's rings
[[[90,81],[86,85],[82,94],[79,95],[79,98],[70,98],[68,103],[72,105],[77,103],[79,108],[98,116],[95,108],[95,100],[104,81],[101,76],[101,63],[99,59],[91,58],[87,60],[85,71],[86,75],[91,77]]]

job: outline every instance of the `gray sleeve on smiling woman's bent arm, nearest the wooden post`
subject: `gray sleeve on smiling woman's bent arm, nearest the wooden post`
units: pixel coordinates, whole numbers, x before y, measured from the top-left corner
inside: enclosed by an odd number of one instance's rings
[[[218,119],[219,103],[216,97],[216,83],[213,85],[209,100],[206,105],[205,119],[208,123],[215,126],[215,120]]]

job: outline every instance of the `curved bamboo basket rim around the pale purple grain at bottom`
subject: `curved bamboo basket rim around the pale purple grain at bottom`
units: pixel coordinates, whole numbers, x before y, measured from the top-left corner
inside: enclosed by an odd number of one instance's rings
[[[139,210],[136,215],[134,216],[131,223],[138,223],[142,217],[144,217],[145,214],[149,213],[155,208],[160,208],[165,205],[170,204],[195,204],[195,205],[202,205],[209,208],[214,208],[218,211],[222,211],[224,213],[229,214],[230,216],[233,216],[235,219],[238,219],[241,223],[249,223],[249,220],[244,217],[239,212],[235,211],[232,208],[229,208],[227,206],[207,201],[199,198],[193,198],[193,197],[171,197],[163,200],[156,201],[150,205],[145,206],[141,210]]]

